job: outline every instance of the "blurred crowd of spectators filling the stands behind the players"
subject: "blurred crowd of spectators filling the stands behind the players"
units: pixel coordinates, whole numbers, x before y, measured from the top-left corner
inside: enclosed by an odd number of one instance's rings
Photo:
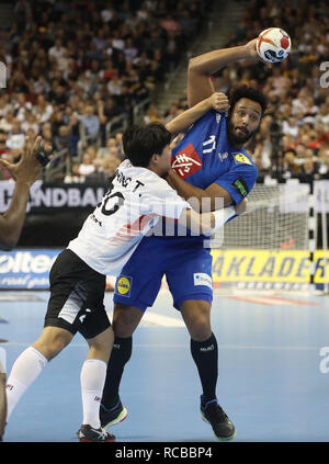
[[[320,86],[320,64],[329,63],[329,4],[288,3],[250,1],[224,45],[242,45],[280,26],[292,37],[288,59],[239,61],[213,78],[217,91],[246,83],[269,98],[260,131],[247,146],[259,180],[329,178],[329,89]],[[191,37],[203,30],[212,5],[209,0],[16,1],[10,27],[1,30],[8,80],[0,90],[0,156],[19,159],[24,136],[41,134],[58,154],[55,166],[67,160],[66,170],[55,170],[48,181],[102,182],[113,176],[124,159],[115,126],[121,116],[132,123],[134,109],[147,102],[143,121],[167,123],[188,107],[182,94],[160,112],[154,95],[186,59]],[[10,173],[2,169],[0,179]]]

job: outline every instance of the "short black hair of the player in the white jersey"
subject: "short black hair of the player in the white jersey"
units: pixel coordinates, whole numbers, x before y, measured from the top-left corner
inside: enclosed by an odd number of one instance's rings
[[[170,144],[171,138],[171,133],[163,124],[133,125],[123,133],[124,154],[133,166],[147,168],[152,155],[160,155],[163,148]]]

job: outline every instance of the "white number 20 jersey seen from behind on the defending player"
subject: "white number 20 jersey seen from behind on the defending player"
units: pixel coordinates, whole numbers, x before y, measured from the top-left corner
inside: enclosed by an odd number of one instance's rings
[[[155,172],[124,160],[102,202],[68,248],[101,274],[117,275],[161,216],[178,219],[190,207]]]

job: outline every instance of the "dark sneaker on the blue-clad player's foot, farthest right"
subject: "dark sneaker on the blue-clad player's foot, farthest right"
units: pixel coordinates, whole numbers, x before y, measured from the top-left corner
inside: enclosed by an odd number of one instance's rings
[[[235,438],[235,426],[220,408],[216,398],[203,403],[203,397],[201,396],[200,409],[203,420],[212,426],[217,440],[227,441]]]

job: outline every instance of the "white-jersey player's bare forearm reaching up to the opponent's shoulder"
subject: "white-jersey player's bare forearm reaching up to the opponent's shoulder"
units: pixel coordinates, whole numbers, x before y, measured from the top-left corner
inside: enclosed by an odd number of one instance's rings
[[[229,103],[228,98],[225,93],[212,93],[207,99],[198,102],[193,107],[184,111],[183,113],[175,116],[168,124],[166,128],[172,134],[177,135],[188,131],[188,128],[195,123],[200,117],[211,110],[218,112],[225,112],[228,110]]]

